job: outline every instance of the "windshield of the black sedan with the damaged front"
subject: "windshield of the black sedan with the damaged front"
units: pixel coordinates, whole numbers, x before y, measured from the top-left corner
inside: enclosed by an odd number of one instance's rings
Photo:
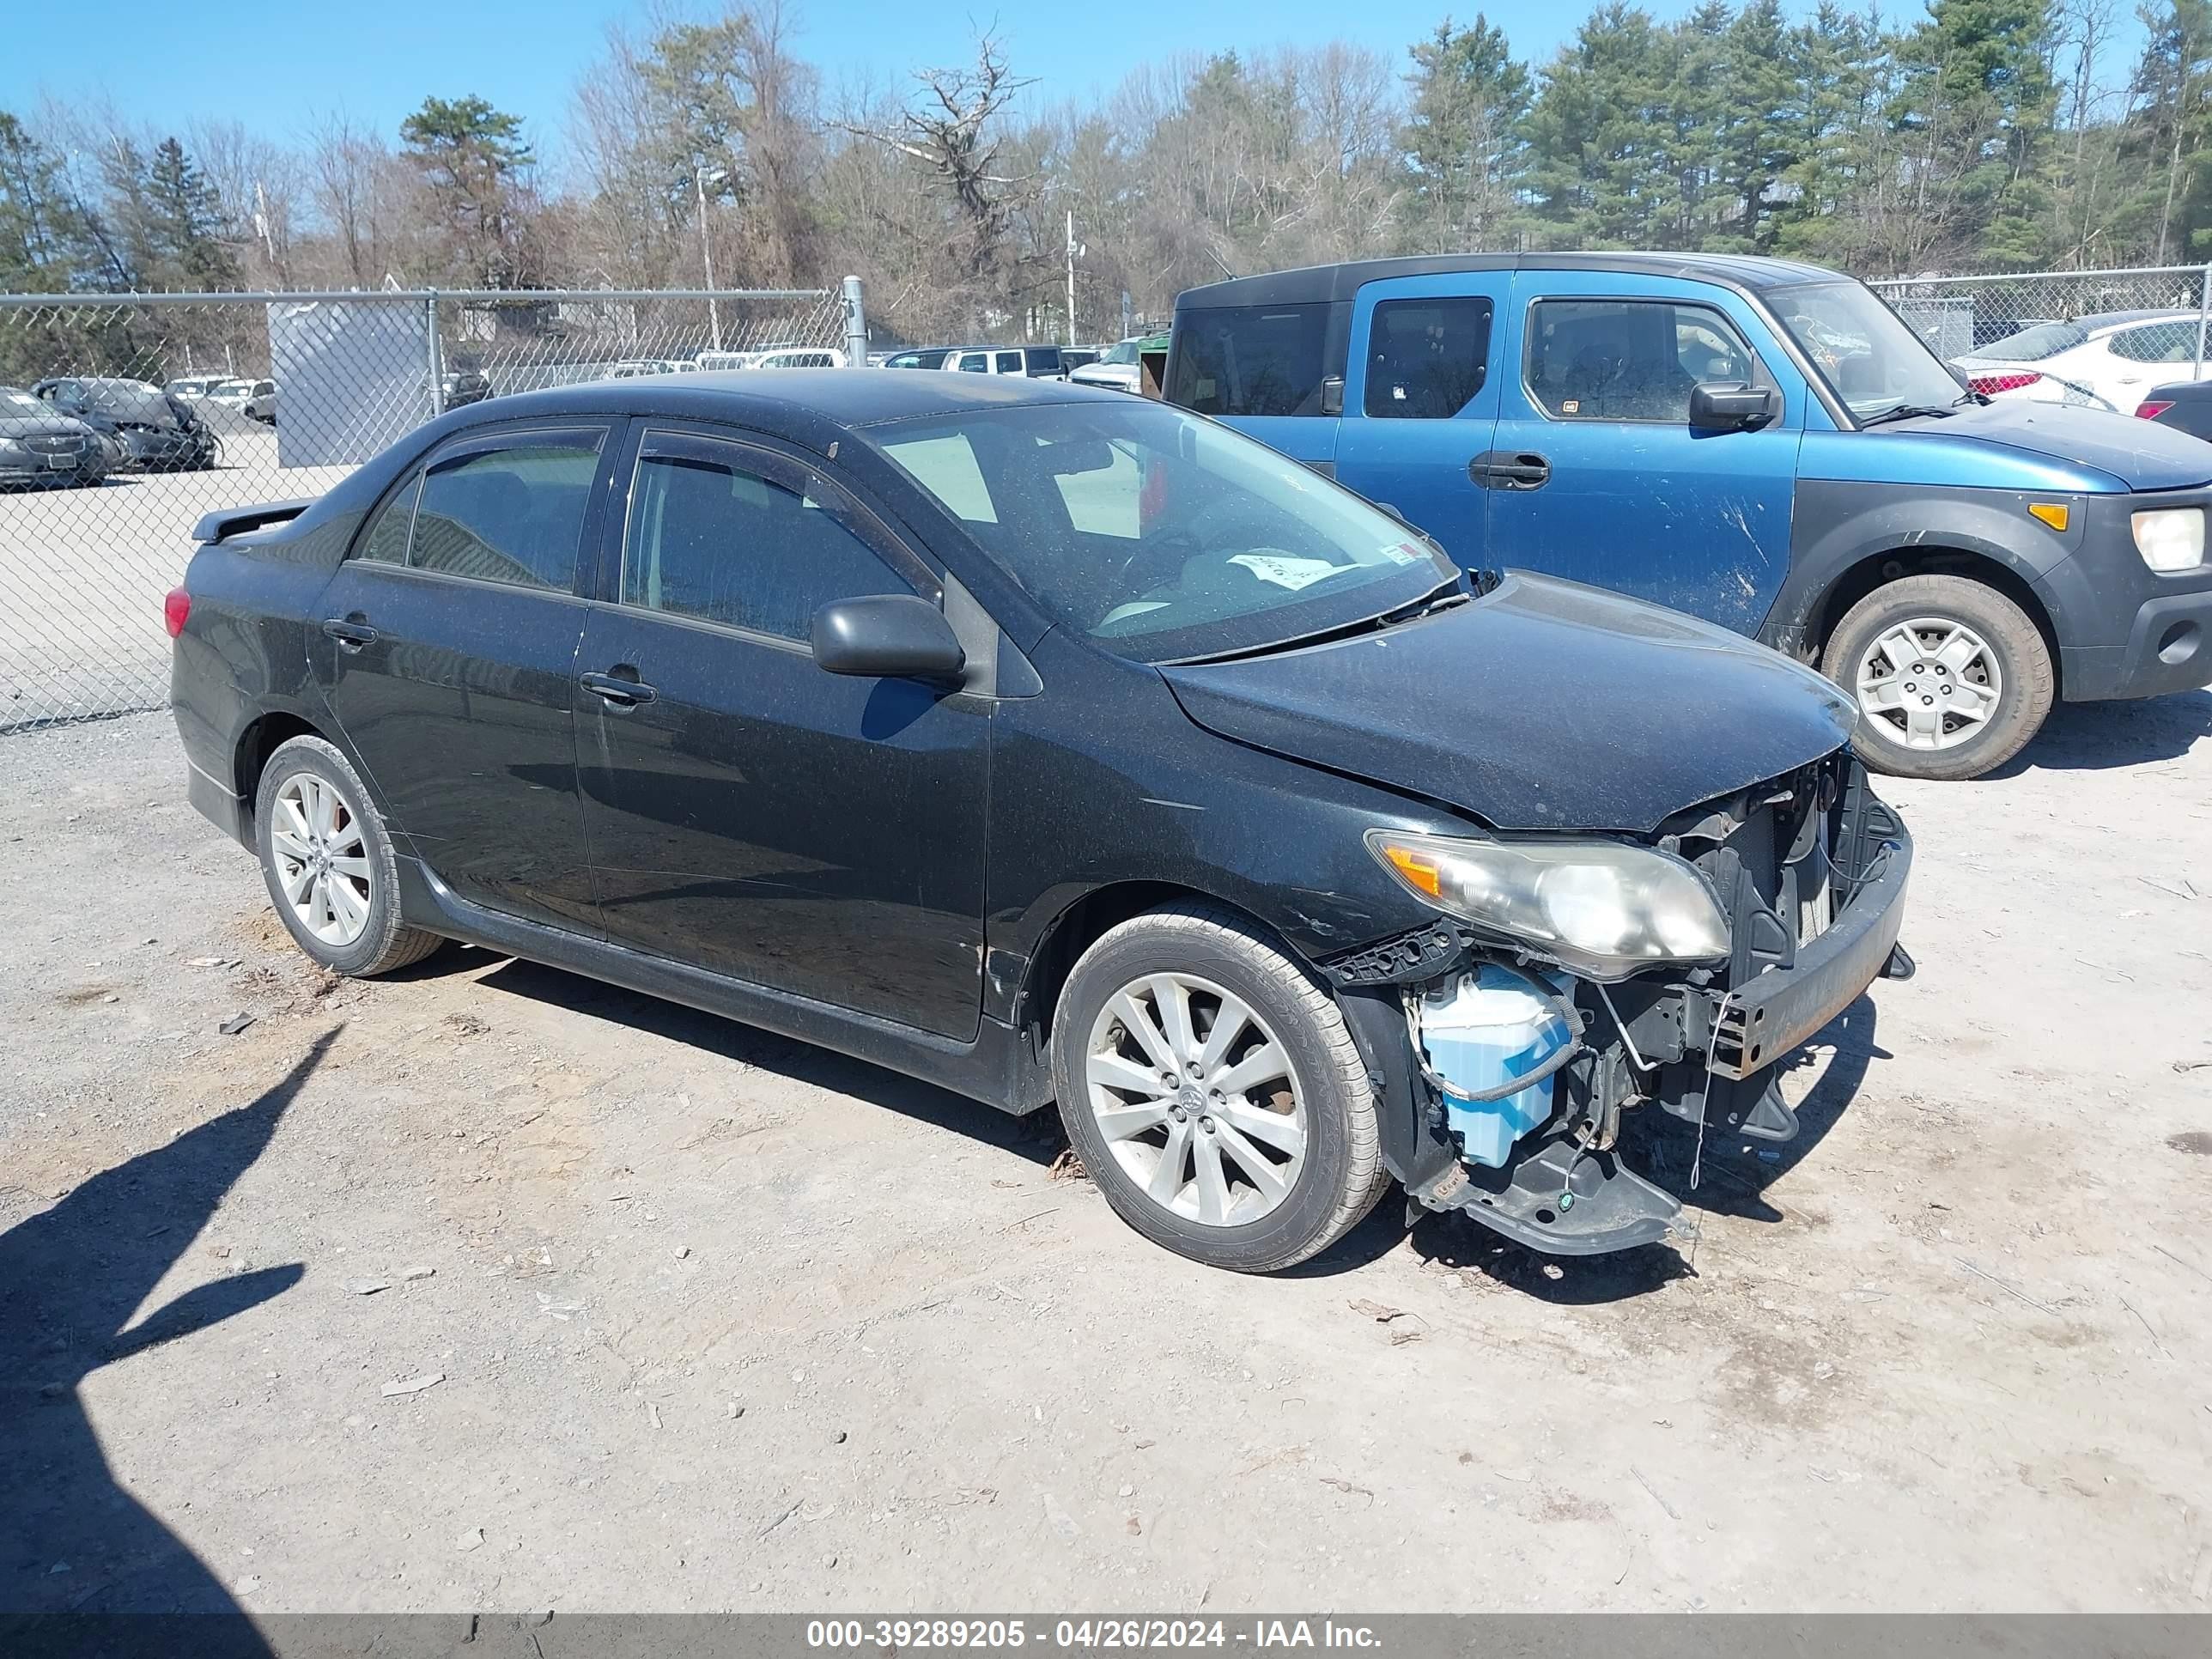
[[[969,409],[863,436],[1055,619],[1137,661],[1343,628],[1458,575],[1358,495],[1159,403]]]

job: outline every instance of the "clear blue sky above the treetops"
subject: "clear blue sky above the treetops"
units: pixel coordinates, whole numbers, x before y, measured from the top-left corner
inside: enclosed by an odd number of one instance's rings
[[[969,20],[998,18],[1013,66],[1037,75],[1035,97],[1106,91],[1148,58],[1225,46],[1318,44],[1347,38],[1402,62],[1405,49],[1447,11],[1447,0],[1113,0],[1102,7],[889,4],[792,0],[799,49],[825,80],[887,84],[925,64],[960,62]],[[1690,0],[1646,0],[1679,15]],[[480,93],[529,119],[557,159],[577,77],[599,55],[608,22],[637,22],[619,0],[102,0],[102,4],[0,4],[0,108],[42,97],[111,100],[126,119],[184,126],[230,115],[274,139],[301,137],[319,115],[345,108],[387,137],[427,93]],[[697,0],[692,11],[712,9]],[[1588,0],[1498,0],[1482,7],[1522,55],[1548,58],[1590,11]],[[1792,11],[1801,7],[1792,4]]]

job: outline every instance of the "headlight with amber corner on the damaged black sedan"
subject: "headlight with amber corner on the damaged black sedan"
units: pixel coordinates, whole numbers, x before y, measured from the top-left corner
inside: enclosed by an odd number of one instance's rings
[[[1668,852],[1396,830],[1369,830],[1367,847],[1425,902],[1526,940],[1593,980],[1728,956],[1728,916],[1712,885]]]

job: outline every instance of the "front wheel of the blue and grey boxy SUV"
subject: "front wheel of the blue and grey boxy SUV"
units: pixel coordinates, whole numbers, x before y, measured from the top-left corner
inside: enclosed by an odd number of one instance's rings
[[[1902,779],[1978,779],[2051,714],[2051,646],[2028,613],[1962,575],[1909,575],[1854,604],[1820,672],[1858,703],[1851,748]]]

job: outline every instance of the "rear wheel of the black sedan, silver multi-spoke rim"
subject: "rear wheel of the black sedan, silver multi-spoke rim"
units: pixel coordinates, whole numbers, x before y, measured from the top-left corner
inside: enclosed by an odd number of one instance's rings
[[[400,918],[385,821],[361,774],[321,737],[281,743],[261,770],[254,849],[285,931],[332,973],[389,973],[445,942]]]

